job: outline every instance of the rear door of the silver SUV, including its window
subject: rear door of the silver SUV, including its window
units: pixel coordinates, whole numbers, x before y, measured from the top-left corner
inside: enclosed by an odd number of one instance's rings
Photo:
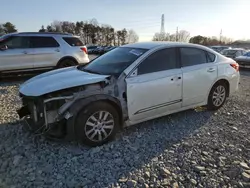
[[[51,36],[30,37],[34,55],[34,68],[52,68],[60,59],[58,42]]]

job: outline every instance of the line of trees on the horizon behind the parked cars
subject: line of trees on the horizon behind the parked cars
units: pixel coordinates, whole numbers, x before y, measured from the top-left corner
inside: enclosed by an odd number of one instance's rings
[[[17,28],[11,22],[0,23],[0,36],[17,32]],[[123,45],[134,43],[139,40],[138,34],[133,29],[115,30],[114,27],[108,24],[99,24],[96,19],[89,21],[54,21],[47,26],[41,26],[39,32],[65,32],[72,33],[81,37],[85,44],[99,45]],[[221,36],[206,37],[193,36],[186,30],[176,31],[176,33],[155,33],[153,41],[177,41],[201,44],[205,46],[211,45],[230,45],[234,41],[230,38]]]

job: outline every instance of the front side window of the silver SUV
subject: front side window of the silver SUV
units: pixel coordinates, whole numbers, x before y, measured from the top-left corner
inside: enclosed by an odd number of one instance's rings
[[[6,45],[8,49],[20,49],[29,48],[29,38],[13,36],[3,41],[3,45]]]

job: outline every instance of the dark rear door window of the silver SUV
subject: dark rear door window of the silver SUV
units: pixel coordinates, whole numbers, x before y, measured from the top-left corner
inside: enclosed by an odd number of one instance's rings
[[[53,37],[30,37],[32,48],[53,48],[59,47]]]

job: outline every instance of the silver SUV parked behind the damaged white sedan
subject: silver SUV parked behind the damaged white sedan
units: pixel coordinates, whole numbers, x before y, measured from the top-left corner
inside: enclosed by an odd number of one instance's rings
[[[65,33],[23,32],[0,37],[0,74],[86,64],[87,47]]]

